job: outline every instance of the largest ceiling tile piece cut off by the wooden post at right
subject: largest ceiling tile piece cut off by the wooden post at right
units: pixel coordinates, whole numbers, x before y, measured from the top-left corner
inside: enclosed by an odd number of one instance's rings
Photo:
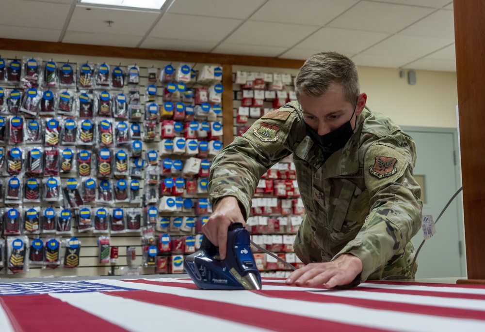
[[[438,10],[419,22],[402,30],[399,34],[438,38],[454,38],[453,11]]]

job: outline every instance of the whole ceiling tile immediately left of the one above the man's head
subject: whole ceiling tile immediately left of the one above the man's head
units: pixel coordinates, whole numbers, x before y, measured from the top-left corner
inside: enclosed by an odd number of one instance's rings
[[[318,27],[309,25],[247,21],[226,42],[291,47],[317,29]]]

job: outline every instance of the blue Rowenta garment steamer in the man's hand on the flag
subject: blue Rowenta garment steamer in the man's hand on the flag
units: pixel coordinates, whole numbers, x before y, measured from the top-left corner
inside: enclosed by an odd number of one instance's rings
[[[249,232],[242,223],[233,223],[227,231],[226,258],[205,236],[200,249],[185,257],[184,268],[202,289],[261,289],[261,275],[249,245]]]

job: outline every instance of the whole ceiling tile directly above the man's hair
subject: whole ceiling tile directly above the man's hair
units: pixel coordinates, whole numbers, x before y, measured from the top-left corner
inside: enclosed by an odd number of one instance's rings
[[[315,49],[321,46],[325,51],[358,53],[388,36],[380,32],[322,28],[295,47]]]

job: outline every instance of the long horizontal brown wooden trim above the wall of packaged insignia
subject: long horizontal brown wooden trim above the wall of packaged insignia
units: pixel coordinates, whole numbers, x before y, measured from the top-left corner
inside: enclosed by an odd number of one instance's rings
[[[75,54],[112,58],[232,64],[274,68],[300,68],[304,61],[232,54],[167,51],[149,48],[84,45],[0,38],[0,50]]]

